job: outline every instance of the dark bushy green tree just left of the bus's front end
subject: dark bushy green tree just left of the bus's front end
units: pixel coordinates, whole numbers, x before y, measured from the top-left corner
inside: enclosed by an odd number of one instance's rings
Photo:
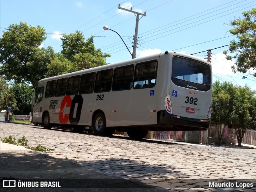
[[[34,89],[26,83],[14,83],[10,87],[10,92],[14,94],[18,109],[13,110],[17,115],[28,115],[30,113],[32,96]]]

